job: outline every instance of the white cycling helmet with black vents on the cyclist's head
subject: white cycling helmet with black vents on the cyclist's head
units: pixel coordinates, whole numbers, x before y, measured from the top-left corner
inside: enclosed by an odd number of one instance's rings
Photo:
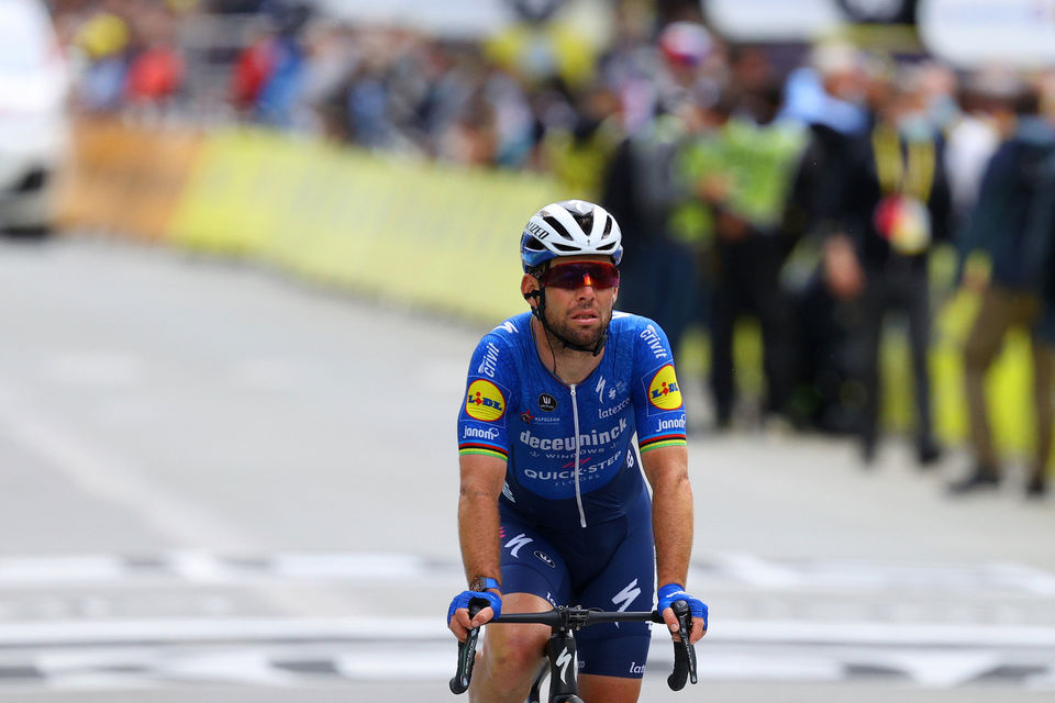
[[[520,258],[529,274],[559,256],[596,254],[619,266],[623,241],[607,210],[585,200],[554,202],[531,216],[520,238]]]

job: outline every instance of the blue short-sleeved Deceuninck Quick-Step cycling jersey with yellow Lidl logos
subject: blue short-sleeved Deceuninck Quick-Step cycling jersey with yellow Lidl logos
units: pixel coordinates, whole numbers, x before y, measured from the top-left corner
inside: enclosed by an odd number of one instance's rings
[[[543,366],[530,312],[477,346],[458,417],[459,451],[508,461],[503,512],[547,527],[624,515],[645,490],[635,433],[642,453],[686,444],[674,358],[651,320],[614,313],[601,362],[574,386]]]

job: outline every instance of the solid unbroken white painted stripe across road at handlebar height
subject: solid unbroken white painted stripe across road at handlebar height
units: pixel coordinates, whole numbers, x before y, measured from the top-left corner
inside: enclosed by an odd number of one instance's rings
[[[654,637],[666,638],[662,628]],[[0,647],[235,641],[426,641],[451,637],[437,618],[187,618],[0,624]],[[708,641],[748,645],[1055,649],[1055,627],[897,625],[729,620]]]

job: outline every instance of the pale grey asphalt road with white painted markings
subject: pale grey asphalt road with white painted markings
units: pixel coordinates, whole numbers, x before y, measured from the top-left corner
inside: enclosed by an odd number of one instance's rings
[[[0,699],[457,700],[454,422],[485,330],[86,237],[0,243]],[[693,435],[711,632],[679,694],[657,638],[644,700],[1055,694],[1055,507],[1018,473],[951,501],[965,457],[909,459]]]

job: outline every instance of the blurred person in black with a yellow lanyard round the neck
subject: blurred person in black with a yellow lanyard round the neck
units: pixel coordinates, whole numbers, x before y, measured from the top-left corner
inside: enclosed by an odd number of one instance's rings
[[[915,397],[917,458],[936,461],[928,353],[931,336],[928,258],[947,239],[951,200],[944,141],[926,113],[917,69],[895,79],[871,130],[858,142],[846,188],[847,235],[865,275],[862,293],[860,362],[865,405],[862,453],[870,462],[879,428],[879,348],[889,311],[908,316]]]

